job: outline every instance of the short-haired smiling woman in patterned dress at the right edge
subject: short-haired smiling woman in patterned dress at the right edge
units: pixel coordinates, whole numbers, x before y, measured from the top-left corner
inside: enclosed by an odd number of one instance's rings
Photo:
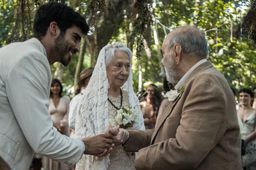
[[[240,106],[237,110],[241,118],[245,131],[245,155],[242,156],[242,165],[246,167],[256,160],[256,129],[255,129],[255,109],[251,106],[254,97],[252,90],[243,88],[239,91]]]

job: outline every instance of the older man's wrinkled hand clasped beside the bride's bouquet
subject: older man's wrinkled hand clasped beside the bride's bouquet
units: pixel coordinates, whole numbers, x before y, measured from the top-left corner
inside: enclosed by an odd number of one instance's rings
[[[129,138],[129,132],[123,128],[119,128],[118,134],[116,134],[116,131],[113,128],[110,128],[109,132],[113,134],[112,140],[115,145],[121,145]]]

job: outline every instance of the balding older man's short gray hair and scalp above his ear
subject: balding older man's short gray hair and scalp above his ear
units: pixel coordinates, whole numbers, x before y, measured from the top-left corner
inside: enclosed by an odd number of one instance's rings
[[[206,58],[209,54],[204,35],[192,26],[183,26],[174,30],[168,48],[171,49],[175,44],[180,44],[182,52],[191,57]]]

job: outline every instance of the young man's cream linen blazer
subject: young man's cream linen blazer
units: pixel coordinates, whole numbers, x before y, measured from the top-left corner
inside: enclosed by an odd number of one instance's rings
[[[66,165],[81,158],[83,143],[53,127],[50,85],[50,65],[39,40],[0,48],[0,156],[12,170],[29,169],[35,152]]]

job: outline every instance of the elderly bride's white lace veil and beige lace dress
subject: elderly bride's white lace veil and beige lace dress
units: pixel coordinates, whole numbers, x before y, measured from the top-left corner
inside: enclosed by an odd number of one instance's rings
[[[75,138],[95,136],[105,133],[109,127],[109,118],[114,118],[114,107],[108,102],[108,79],[105,65],[105,52],[112,48],[125,46],[121,43],[114,43],[103,47],[99,53],[92,77],[88,86],[83,91],[83,96],[77,107]],[[121,87],[123,91],[123,106],[136,107],[139,112],[138,121],[134,122],[133,127],[139,130],[145,130],[144,119],[140,111],[139,99],[133,91],[132,72],[128,80]],[[109,97],[109,99],[118,107],[120,98]],[[92,155],[83,155],[76,164],[76,170],[132,170],[134,169],[134,157],[126,154],[122,146],[116,146],[110,154],[98,161]]]

